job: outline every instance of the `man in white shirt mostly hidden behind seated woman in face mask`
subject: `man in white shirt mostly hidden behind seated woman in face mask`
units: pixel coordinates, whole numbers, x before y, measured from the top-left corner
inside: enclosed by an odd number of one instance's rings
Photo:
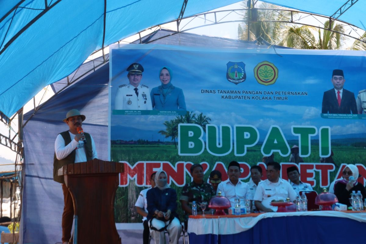
[[[143,233],[142,233],[142,240],[143,244],[149,243],[149,233],[150,228],[147,224],[146,216],[147,216],[147,200],[146,200],[146,192],[149,191],[151,188],[155,187],[155,174],[156,172],[152,173],[150,176],[150,188],[144,189],[140,192],[140,195],[137,198],[135,203],[136,211],[138,214],[142,215],[142,225],[143,225]]]

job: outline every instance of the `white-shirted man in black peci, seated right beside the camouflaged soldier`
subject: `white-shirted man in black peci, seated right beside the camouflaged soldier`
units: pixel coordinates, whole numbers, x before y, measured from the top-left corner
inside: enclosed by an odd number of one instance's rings
[[[239,180],[240,177],[240,165],[236,161],[232,161],[229,164],[227,174],[228,180],[225,180],[217,187],[217,192],[221,192],[221,196],[225,196],[229,199],[231,207],[235,207],[235,197],[240,199],[240,207],[245,206],[245,199],[249,197],[248,184]]]

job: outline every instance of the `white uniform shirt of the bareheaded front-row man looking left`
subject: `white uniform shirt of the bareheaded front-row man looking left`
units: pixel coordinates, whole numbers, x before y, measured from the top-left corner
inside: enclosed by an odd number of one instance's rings
[[[268,179],[261,181],[254,194],[255,201],[261,201],[263,206],[273,211],[277,211],[277,207],[270,205],[270,202],[272,200],[285,201],[286,198],[290,198],[290,201],[293,202],[296,198],[296,192],[290,183],[283,179],[279,179],[276,183],[272,183]]]

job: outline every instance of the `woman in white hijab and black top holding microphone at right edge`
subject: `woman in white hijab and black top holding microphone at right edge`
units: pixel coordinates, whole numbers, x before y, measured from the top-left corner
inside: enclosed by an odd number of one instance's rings
[[[349,198],[351,198],[352,191],[361,191],[362,199],[366,198],[366,190],[363,184],[357,182],[358,168],[356,165],[348,164],[342,172],[343,179],[337,180],[334,185],[334,194],[338,198],[338,202],[351,206]],[[352,177],[351,177],[352,176]],[[351,178],[351,179],[350,179]]]

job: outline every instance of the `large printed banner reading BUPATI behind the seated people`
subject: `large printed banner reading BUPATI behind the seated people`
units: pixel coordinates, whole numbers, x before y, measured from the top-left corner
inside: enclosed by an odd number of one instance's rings
[[[191,181],[192,164],[202,164],[206,178],[220,170],[225,180],[235,160],[248,181],[251,165],[265,170],[272,159],[281,163],[284,179],[286,168],[297,165],[300,180],[318,191],[339,178],[346,164],[358,166],[365,184],[365,56],[112,46],[110,155],[125,163],[120,185],[147,186],[150,174],[164,169],[179,194]]]

